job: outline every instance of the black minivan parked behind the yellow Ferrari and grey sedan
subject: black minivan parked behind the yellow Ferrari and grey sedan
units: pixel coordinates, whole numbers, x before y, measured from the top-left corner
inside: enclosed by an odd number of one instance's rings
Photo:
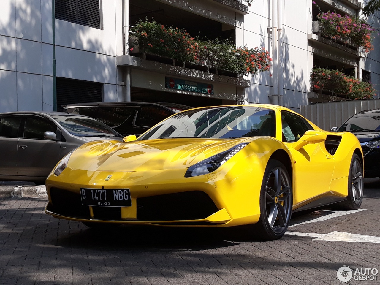
[[[67,112],[100,120],[118,133],[141,135],[163,119],[192,107],[165,102],[98,102],[62,106]]]

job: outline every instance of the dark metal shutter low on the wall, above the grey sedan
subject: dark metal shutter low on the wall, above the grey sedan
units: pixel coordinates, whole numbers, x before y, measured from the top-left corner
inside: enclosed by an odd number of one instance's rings
[[[57,111],[62,105],[101,102],[101,83],[57,77]]]

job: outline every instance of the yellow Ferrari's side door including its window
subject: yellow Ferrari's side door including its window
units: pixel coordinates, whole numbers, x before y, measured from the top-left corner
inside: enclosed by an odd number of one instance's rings
[[[313,127],[301,116],[281,111],[282,141],[294,160],[293,206],[329,191],[335,161],[328,154],[325,142],[307,144],[299,150],[292,145]]]

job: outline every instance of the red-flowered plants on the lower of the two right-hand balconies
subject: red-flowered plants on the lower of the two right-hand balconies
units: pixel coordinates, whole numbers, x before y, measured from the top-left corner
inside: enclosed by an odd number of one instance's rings
[[[352,100],[371,99],[376,92],[370,82],[363,82],[347,76],[342,71],[326,68],[313,68],[312,84],[314,91],[327,91],[332,95]]]

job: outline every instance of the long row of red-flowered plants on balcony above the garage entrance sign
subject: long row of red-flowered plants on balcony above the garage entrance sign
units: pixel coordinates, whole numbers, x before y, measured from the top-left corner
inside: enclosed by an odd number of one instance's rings
[[[228,40],[200,40],[179,28],[155,21],[139,21],[130,29],[133,52],[156,54],[182,62],[204,65],[216,70],[242,75],[255,75],[270,68],[272,61],[264,48],[236,47]]]

